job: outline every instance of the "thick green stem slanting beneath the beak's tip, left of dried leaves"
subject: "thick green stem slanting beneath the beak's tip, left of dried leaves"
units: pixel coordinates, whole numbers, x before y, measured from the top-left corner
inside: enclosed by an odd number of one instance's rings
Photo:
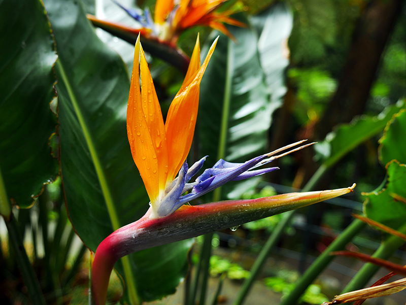
[[[330,255],[330,253],[344,249],[346,244],[349,243],[354,236],[365,227],[365,225],[366,224],[361,220],[355,219],[312,263],[312,265],[295,283],[295,288],[282,300],[280,305],[295,304],[309,285],[313,283],[324,268],[326,268],[333,260],[334,256]]]

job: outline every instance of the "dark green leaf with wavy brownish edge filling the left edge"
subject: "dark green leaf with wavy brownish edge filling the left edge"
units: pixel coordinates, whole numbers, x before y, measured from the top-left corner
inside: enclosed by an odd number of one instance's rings
[[[56,126],[49,103],[57,56],[39,0],[1,0],[0,28],[0,192],[27,208],[58,173],[48,145]]]

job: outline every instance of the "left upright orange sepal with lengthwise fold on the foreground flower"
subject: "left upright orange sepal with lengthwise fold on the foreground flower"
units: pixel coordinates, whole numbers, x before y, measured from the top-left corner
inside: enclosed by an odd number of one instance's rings
[[[140,36],[134,52],[127,106],[127,134],[132,158],[153,203],[166,182],[168,158],[165,128]]]

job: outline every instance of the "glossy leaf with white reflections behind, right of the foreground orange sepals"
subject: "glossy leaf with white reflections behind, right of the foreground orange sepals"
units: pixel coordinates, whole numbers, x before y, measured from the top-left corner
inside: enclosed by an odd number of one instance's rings
[[[244,162],[265,152],[272,112],[280,105],[279,99],[286,90],[282,82],[274,79],[282,77],[287,64],[283,60],[274,62],[281,57],[286,35],[269,37],[280,30],[278,25],[283,27],[289,20],[286,11],[271,8],[256,17],[255,29],[228,27],[238,43],[220,35],[200,87],[199,153],[209,155],[207,166],[218,158]],[[270,94],[274,92],[271,101]],[[224,186],[223,197],[239,197],[257,181],[254,178],[230,183]]]

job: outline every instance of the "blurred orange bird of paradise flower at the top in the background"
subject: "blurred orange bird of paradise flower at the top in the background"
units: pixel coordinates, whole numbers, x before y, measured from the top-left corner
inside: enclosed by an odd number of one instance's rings
[[[131,44],[136,42],[140,34],[146,51],[186,73],[190,59],[177,47],[179,36],[183,31],[199,25],[209,26],[234,40],[224,23],[246,26],[244,23],[230,17],[231,14],[236,12],[234,9],[222,12],[216,11],[224,2],[226,0],[157,0],[154,19],[148,8],[144,10],[144,13],[140,13],[140,10],[125,8],[116,2],[118,6],[140,24],[140,27],[137,28],[100,20],[90,14],[87,15],[87,18],[93,25]]]

